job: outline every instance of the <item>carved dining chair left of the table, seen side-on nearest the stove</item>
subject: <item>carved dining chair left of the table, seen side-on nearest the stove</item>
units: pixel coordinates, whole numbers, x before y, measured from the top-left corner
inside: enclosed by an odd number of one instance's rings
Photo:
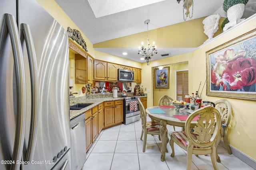
[[[147,115],[145,108],[138,98],[139,102],[139,107],[140,107],[140,119],[141,119],[141,125],[142,125],[142,132],[140,136],[140,140],[142,140],[142,137],[144,136],[144,141],[143,141],[143,152],[145,152],[146,149],[146,143],[147,143],[147,135],[158,135],[158,138],[160,140],[160,123],[159,121],[147,121]],[[167,129],[166,129],[167,133]],[[167,151],[168,152],[168,151]]]

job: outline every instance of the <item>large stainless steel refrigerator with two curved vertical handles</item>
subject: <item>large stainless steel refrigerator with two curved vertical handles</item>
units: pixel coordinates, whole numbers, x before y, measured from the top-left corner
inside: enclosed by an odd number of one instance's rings
[[[70,170],[68,33],[36,0],[1,0],[0,28],[0,170]]]

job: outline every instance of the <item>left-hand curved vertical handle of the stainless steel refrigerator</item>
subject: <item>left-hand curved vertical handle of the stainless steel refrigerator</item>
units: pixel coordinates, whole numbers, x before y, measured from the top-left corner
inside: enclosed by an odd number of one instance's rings
[[[18,32],[16,19],[11,14],[4,14],[2,22],[2,30],[0,32],[0,47],[3,47],[4,35],[9,32],[12,52],[14,57],[14,68],[16,73],[16,96],[17,96],[17,115],[16,115],[16,129],[14,148],[12,152],[12,161],[15,163],[11,165],[10,170],[18,169],[17,160],[22,158],[22,149],[25,136],[26,123],[26,84],[25,84],[25,68],[22,55],[22,47]]]

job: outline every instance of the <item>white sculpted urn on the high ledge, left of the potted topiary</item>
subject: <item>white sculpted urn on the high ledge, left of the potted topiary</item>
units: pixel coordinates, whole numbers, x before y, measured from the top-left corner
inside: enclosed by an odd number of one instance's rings
[[[208,16],[203,20],[204,33],[208,36],[208,39],[204,43],[206,43],[207,41],[213,38],[214,33],[216,33],[216,31],[219,28],[218,27],[219,20],[220,20],[220,14],[214,14],[214,15]]]

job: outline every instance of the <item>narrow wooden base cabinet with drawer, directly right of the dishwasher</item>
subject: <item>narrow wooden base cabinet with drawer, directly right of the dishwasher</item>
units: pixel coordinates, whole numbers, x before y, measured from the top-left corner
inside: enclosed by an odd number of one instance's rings
[[[86,152],[92,145],[92,109],[85,113]]]

